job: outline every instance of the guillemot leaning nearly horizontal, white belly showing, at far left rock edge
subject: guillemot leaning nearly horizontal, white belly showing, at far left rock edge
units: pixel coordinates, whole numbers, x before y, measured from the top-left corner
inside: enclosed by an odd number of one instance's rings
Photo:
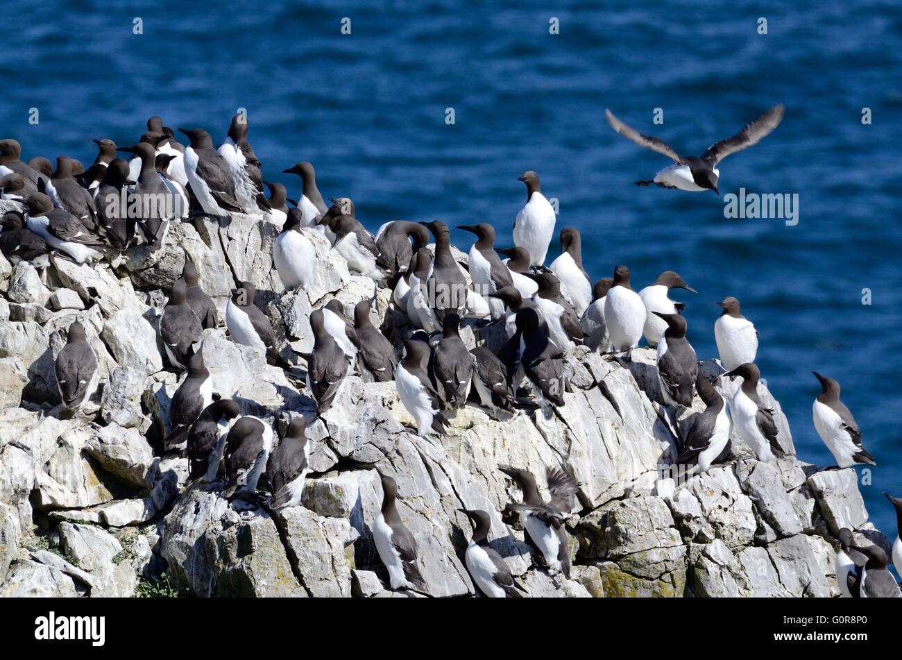
[[[84,189],[84,188],[82,188]],[[104,245],[96,229],[62,208],[54,208],[51,198],[33,193],[25,198],[25,224],[52,248],[66,252],[78,263],[103,258]]]

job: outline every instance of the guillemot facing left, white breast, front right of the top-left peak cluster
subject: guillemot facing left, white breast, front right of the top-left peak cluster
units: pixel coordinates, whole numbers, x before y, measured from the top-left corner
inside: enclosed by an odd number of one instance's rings
[[[191,141],[185,149],[185,175],[204,213],[222,216],[226,215],[224,211],[244,211],[235,199],[235,182],[229,165],[213,148],[210,134],[201,128],[179,128],[179,132]]]

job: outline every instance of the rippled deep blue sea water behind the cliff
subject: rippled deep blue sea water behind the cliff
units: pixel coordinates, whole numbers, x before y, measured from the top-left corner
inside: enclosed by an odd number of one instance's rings
[[[716,355],[714,301],[741,299],[803,460],[833,462],[812,425],[811,371],[842,383],[879,462],[861,489],[871,519],[895,534],[880,493],[902,493],[897,2],[14,0],[4,14],[0,133],[26,158],[90,162],[91,138],[131,143],[150,115],[219,141],[244,107],[264,177],[292,196],[298,180],[281,170],[311,160],[324,195],[352,197],[373,230],[482,221],[502,244],[525,200],[517,177],[537,170],[560,201],[558,226],[582,232],[593,278],[626,263],[637,288],[672,269],[698,289],[676,297],[700,357]],[[796,226],[725,219],[713,193],[633,187],[667,161],[603,116],[610,106],[698,155],[775,103],[787,105],[783,124],[723,161],[721,191],[797,193]],[[32,107],[40,124],[28,123]],[[466,249],[472,236],[453,238]]]

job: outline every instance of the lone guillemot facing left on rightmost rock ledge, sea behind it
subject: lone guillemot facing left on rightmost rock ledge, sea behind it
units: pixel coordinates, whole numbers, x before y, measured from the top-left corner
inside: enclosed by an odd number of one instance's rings
[[[840,384],[837,380],[812,371],[821,383],[821,393],[815,399],[813,415],[817,435],[833,454],[841,468],[855,463],[876,465],[874,457],[861,445],[861,428],[852,417],[849,408],[840,400]]]

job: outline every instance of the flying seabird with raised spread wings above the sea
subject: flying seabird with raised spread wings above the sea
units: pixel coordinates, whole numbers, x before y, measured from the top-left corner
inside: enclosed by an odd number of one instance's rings
[[[721,173],[717,170],[717,164],[731,153],[758,144],[761,138],[769,135],[778,127],[785,109],[783,105],[774,105],[758,119],[746,124],[745,128],[733,135],[732,138],[714,142],[700,158],[678,155],[663,140],[643,135],[634,128],[623,124],[610,110],[606,109],[604,115],[608,118],[612,128],[627,140],[674,160],[673,165],[660,170],[654,179],[636,181],[637,186],[650,186],[652,183],[656,183],[658,188],[679,188],[690,192],[713,190],[720,195],[721,191],[717,188],[717,184]]]

